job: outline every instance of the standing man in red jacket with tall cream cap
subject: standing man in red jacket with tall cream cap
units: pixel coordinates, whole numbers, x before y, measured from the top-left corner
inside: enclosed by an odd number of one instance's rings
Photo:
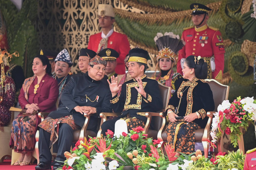
[[[99,4],[98,21],[102,32],[90,36],[87,48],[97,54],[106,48],[116,50],[119,53],[119,57],[116,60],[115,72],[117,74],[125,74],[124,59],[130,51],[130,44],[126,35],[113,31],[114,17],[114,8],[111,5]]]

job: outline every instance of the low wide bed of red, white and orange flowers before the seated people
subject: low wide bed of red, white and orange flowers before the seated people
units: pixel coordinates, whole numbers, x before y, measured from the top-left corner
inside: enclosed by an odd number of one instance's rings
[[[159,140],[148,138],[143,130],[142,127],[137,127],[128,134],[122,133],[119,138],[114,137],[114,133],[108,130],[106,137],[77,141],[70,152],[64,153],[67,159],[63,167],[58,169],[192,170],[193,167],[203,164],[205,166],[202,167],[213,169],[219,166],[219,163],[214,164],[204,158],[200,150],[189,155],[180,153],[180,156],[176,157],[176,152],[170,145],[163,145]]]

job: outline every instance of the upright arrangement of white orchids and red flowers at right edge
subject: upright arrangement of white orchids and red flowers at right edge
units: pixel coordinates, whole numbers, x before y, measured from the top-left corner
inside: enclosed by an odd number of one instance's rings
[[[239,96],[231,104],[224,100],[218,106],[218,112],[212,119],[212,143],[216,143],[218,137],[224,132],[230,135],[230,141],[234,147],[238,145],[238,139],[242,135],[241,128],[247,129],[250,121],[256,118],[256,100],[253,97],[241,99]]]

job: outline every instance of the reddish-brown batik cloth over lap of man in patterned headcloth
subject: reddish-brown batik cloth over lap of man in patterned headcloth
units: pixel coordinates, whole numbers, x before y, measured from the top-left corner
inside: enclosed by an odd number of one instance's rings
[[[58,119],[46,117],[46,119],[44,119],[44,121],[42,121],[38,125],[38,127],[41,127],[42,129],[51,134],[50,146],[52,146],[58,140],[60,123],[67,123],[73,129],[73,131],[78,129],[78,126],[74,122],[73,115],[67,115]]]

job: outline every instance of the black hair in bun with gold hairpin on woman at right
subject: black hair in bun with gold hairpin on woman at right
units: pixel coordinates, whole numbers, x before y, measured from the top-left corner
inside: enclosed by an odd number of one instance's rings
[[[195,59],[196,58],[196,59]],[[185,63],[189,68],[195,69],[195,76],[199,79],[207,78],[207,64],[204,62],[204,59],[200,59],[198,61],[198,57],[194,55],[190,55],[186,58]]]

